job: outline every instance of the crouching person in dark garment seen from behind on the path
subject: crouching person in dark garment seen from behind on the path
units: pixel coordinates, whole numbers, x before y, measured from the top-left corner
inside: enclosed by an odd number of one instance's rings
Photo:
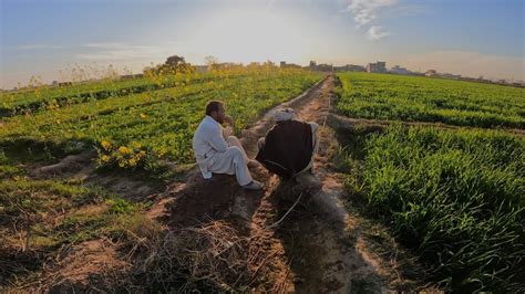
[[[291,108],[276,112],[276,125],[258,141],[256,159],[269,171],[290,179],[310,171],[318,149],[318,124],[296,120]]]

